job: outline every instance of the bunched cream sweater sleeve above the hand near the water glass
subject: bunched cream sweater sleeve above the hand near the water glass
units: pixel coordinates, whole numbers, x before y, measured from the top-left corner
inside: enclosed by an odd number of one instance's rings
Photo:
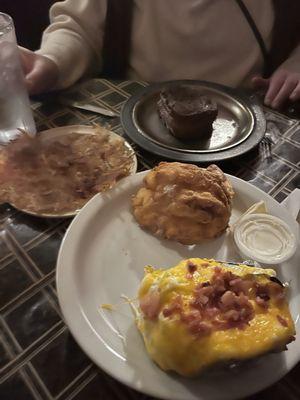
[[[65,0],[51,7],[51,24],[37,53],[57,64],[57,89],[101,68],[106,11],[107,0]]]

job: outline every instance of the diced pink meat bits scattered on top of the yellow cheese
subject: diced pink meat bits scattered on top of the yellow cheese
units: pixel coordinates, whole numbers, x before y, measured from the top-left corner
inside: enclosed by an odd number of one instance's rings
[[[190,262],[187,268],[192,278],[197,266]],[[207,335],[220,329],[245,329],[254,318],[250,295],[252,298],[254,295],[256,304],[265,309],[268,308],[271,297],[279,303],[285,297],[284,288],[277,282],[270,281],[262,285],[252,276],[242,279],[230,271],[215,267],[211,280],[196,286],[188,312],[184,311],[182,297],[178,295],[162,310],[162,314],[166,318],[178,315],[189,332],[196,336]],[[144,296],[140,307],[145,317],[157,318],[160,312],[159,292],[152,291]],[[277,315],[277,319],[283,326],[288,326],[287,321],[280,315]]]

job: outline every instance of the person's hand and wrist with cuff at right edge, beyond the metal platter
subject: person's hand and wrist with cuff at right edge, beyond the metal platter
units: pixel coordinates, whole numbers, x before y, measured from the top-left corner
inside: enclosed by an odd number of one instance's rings
[[[300,44],[269,79],[253,78],[256,87],[266,88],[265,104],[280,108],[287,100],[300,100]]]

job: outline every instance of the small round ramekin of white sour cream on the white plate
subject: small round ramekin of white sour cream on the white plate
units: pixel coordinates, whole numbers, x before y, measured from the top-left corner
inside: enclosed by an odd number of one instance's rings
[[[263,264],[279,264],[297,248],[295,235],[280,218],[270,214],[248,214],[234,229],[234,241],[242,257]]]

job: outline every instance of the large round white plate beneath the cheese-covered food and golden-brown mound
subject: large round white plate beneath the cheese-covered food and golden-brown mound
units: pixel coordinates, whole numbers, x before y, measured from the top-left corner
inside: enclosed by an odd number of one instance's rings
[[[163,399],[233,400],[271,385],[300,359],[299,248],[293,259],[276,267],[279,278],[290,282],[290,309],[298,331],[288,351],[194,379],[165,373],[149,359],[130,307],[121,295],[136,297],[146,264],[170,267],[188,257],[241,260],[228,234],[205,245],[184,246],[143,231],[131,214],[130,200],[144,176],[128,177],[111,191],[96,195],[76,216],[64,238],[58,257],[57,289],[73,336],[108,374]],[[269,212],[286,221],[298,236],[296,222],[275,200],[247,182],[228,177],[236,192],[231,222],[253,203],[264,200]],[[104,310],[103,303],[116,304],[116,310]]]

